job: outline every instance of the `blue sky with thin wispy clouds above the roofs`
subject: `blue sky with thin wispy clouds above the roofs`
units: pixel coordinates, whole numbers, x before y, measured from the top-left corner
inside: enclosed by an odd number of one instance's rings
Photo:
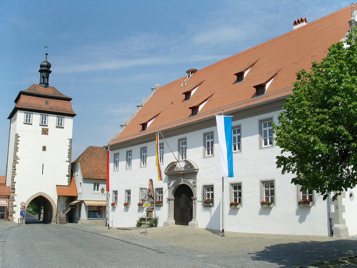
[[[161,86],[285,34],[349,1],[0,0],[0,175],[14,100],[52,64],[50,86],[70,96],[74,161],[103,146]],[[346,22],[347,23],[347,22]]]

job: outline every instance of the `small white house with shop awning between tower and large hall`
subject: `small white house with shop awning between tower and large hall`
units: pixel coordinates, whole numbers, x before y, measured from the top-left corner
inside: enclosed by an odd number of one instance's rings
[[[70,222],[104,222],[106,218],[106,152],[103,147],[89,146],[73,163],[72,174],[78,198],[70,214]]]

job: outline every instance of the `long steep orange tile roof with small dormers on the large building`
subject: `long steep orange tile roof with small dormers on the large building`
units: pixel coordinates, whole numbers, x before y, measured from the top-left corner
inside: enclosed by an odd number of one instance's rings
[[[262,103],[268,100],[288,96],[292,93],[292,82],[296,80],[296,72],[308,70],[311,61],[321,61],[327,55],[328,47],[345,37],[349,30],[348,21],[351,8],[346,7],[298,29],[266,41],[260,45],[242,51],[196,71],[186,85],[181,86],[185,77],[172,81],[158,88],[137,112],[121,133],[109,144],[116,144],[132,138],[141,137],[160,130],[174,128],[184,123],[194,122],[212,117],[221,109],[225,112]],[[258,60],[257,60],[258,59]],[[252,66],[245,79],[236,84],[237,70]],[[254,85],[276,71],[275,76],[265,94],[256,97]],[[204,81],[203,81],[204,80]],[[203,82],[202,82],[203,81]],[[182,92],[191,90],[202,84],[191,96],[183,101]],[[214,92],[200,113],[191,115],[188,109],[197,104],[205,95]],[[142,119],[161,113],[144,131],[141,131]]]

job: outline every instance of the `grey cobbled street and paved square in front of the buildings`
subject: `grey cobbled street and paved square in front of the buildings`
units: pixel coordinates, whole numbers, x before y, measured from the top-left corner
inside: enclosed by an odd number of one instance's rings
[[[138,227],[108,230],[104,224],[74,223],[17,227],[15,223],[0,222],[0,236],[1,268],[50,267],[49,264],[51,267],[85,264],[86,267],[297,267],[357,255],[357,237],[238,232],[226,232],[221,237],[218,230],[180,225],[149,228],[145,236],[145,228]],[[19,254],[21,251],[23,254]],[[18,261],[24,254],[29,254],[25,266]],[[40,260],[37,265],[33,265],[36,260],[33,255]],[[52,263],[52,259],[56,261]]]

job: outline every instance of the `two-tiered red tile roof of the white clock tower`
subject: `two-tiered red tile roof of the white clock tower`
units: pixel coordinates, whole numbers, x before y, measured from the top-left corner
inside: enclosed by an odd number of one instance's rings
[[[50,114],[75,116],[72,109],[72,98],[62,94],[53,86],[42,88],[33,84],[26,90],[21,90],[15,99],[15,108],[11,111],[10,119],[17,110],[40,111]],[[45,104],[48,101],[48,104]]]

